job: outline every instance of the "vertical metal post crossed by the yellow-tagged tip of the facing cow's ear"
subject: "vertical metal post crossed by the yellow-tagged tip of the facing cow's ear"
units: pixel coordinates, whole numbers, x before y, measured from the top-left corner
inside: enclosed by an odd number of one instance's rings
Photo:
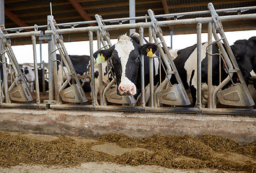
[[[152,27],[149,27],[149,43],[153,43]],[[149,59],[150,107],[154,107],[154,59]]]

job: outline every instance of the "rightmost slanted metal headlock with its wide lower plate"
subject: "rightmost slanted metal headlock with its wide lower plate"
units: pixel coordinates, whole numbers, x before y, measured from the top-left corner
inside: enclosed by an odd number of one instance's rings
[[[213,18],[213,22],[215,24],[215,28],[213,28],[213,37],[215,38],[216,43],[218,44],[221,53],[224,56],[227,66],[229,67],[227,69],[229,71],[229,76],[227,76],[227,78],[224,79],[221,84],[219,84],[219,86],[213,93],[213,107],[216,107],[216,95],[218,96],[219,101],[223,105],[244,107],[253,106],[255,105],[255,102],[250,95],[246,82],[244,81],[244,77],[242,76],[242,72],[240,71],[237,64],[236,58],[234,58],[234,54],[229,46],[229,42],[226,39],[223,25],[221,24],[221,20],[219,19],[219,15],[216,13],[213,4],[209,3],[208,9],[211,12],[211,17]],[[217,35],[217,31],[220,33],[221,39]],[[226,50],[220,40],[223,40]],[[234,73],[237,73],[237,76],[239,78],[239,83],[237,84],[235,84],[234,81],[232,81],[231,79]],[[225,86],[229,81],[232,81],[233,86],[221,90],[221,88]]]

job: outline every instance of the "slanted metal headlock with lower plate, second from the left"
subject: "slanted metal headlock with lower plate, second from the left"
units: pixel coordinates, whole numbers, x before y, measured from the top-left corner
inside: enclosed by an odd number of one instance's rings
[[[53,35],[55,37],[56,46],[61,55],[61,59],[63,60],[63,63],[65,63],[68,71],[68,79],[66,79],[61,88],[58,89],[58,93],[60,94],[61,99],[66,102],[87,102],[87,97],[84,94],[84,90],[81,88],[79,78],[76,75],[76,71],[71,59],[69,58],[69,54],[67,53],[63,40],[61,39],[61,36],[58,35],[53,22],[55,22],[55,20],[48,20],[50,29],[53,31]],[[70,84],[72,77],[75,79],[76,84],[71,84],[71,86],[65,89],[65,87]]]

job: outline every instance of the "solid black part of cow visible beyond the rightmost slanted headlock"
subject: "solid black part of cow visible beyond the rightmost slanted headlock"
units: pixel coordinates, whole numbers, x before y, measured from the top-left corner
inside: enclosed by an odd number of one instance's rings
[[[255,61],[252,45],[248,40],[237,40],[234,45],[231,45],[231,50],[244,76],[244,80],[248,81]]]

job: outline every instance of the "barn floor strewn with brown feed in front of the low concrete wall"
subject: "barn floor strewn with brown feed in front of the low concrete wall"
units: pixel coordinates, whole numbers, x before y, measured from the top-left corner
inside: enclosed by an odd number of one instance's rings
[[[0,132],[0,172],[254,172],[255,143],[221,136],[97,138]]]

